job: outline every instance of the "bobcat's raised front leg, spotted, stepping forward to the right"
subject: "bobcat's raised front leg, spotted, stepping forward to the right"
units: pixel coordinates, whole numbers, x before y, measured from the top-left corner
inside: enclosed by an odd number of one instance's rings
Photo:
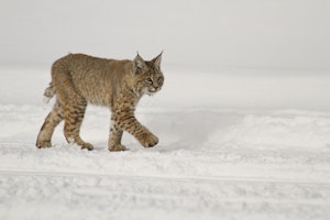
[[[152,147],[158,143],[158,138],[136,120],[132,110],[117,111],[113,113],[112,119],[118,128],[135,136],[144,147]]]

